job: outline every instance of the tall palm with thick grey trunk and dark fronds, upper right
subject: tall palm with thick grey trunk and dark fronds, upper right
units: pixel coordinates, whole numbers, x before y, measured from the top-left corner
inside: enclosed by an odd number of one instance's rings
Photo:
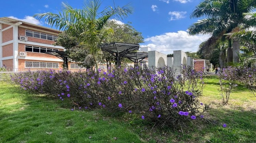
[[[219,42],[228,40],[228,62],[233,57],[233,62],[239,62],[239,46],[237,39],[227,38],[224,34],[231,32],[234,28],[243,26],[247,28],[245,16],[256,7],[256,0],[204,0],[196,6],[191,18],[205,17],[198,20],[188,28],[190,35],[211,34],[211,37],[204,43],[203,48],[208,49]],[[233,49],[231,47],[233,45]],[[209,49],[212,50],[212,49]],[[208,50],[208,51],[209,51]],[[230,53],[232,52],[233,53]]]

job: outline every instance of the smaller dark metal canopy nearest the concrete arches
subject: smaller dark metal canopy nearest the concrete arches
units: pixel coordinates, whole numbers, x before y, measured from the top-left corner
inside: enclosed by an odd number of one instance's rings
[[[128,52],[123,57],[134,62],[134,65],[148,57],[147,52]]]

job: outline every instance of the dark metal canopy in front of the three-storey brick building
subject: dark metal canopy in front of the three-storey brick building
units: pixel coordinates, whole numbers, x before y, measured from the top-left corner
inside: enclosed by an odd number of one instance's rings
[[[63,69],[69,69],[68,61],[71,59],[69,58],[69,54],[66,51],[50,51],[45,53],[54,55],[59,59],[63,60]]]

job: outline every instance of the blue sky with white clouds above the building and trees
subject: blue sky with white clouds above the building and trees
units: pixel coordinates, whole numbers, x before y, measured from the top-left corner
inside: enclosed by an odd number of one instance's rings
[[[120,24],[131,22],[132,26],[142,32],[145,43],[141,47],[170,54],[173,50],[195,52],[200,43],[209,35],[187,34],[187,28],[198,19],[190,19],[190,14],[201,0],[102,0],[101,9],[107,6],[123,6],[130,3],[135,11],[126,19],[116,19]],[[44,19],[33,18],[36,13],[58,13],[62,2],[73,8],[83,9],[84,0],[4,0],[1,1],[0,17],[11,17],[41,26]],[[55,27],[52,27],[55,29]]]

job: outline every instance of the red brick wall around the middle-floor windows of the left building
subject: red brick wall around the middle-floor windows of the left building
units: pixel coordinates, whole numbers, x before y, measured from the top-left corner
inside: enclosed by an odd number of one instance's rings
[[[19,43],[19,53],[20,52],[25,52],[25,45],[28,45],[28,44],[21,44]],[[33,45],[29,45],[29,46],[33,46]],[[47,47],[45,47],[47,48]],[[56,48],[57,49],[57,48]],[[60,51],[63,51],[63,49],[59,49]],[[56,56],[54,55],[49,55],[49,54],[45,54],[45,53],[36,53],[36,52],[27,52],[27,56],[28,57],[40,57],[40,58],[53,58],[53,59],[59,59],[57,58]]]

